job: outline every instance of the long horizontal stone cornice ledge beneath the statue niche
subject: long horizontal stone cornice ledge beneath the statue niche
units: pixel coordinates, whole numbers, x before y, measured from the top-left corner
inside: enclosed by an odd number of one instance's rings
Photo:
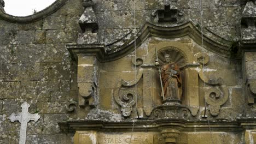
[[[101,121],[101,120],[78,120],[59,122],[63,131],[96,130],[96,131],[131,131],[133,121]],[[137,120],[133,131],[159,131],[163,128],[176,128],[178,130],[189,131],[243,131],[254,129],[255,118],[243,118],[236,120],[187,120],[176,118],[164,118],[156,120]]]

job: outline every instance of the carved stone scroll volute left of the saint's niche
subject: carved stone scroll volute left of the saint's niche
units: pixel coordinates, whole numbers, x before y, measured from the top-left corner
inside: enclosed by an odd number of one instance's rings
[[[121,106],[121,112],[124,117],[129,117],[132,112],[133,105],[136,104],[136,89],[131,88],[141,79],[143,71],[138,71],[137,79],[133,81],[121,80],[121,86],[114,94],[114,100]],[[138,93],[137,93],[138,97]]]

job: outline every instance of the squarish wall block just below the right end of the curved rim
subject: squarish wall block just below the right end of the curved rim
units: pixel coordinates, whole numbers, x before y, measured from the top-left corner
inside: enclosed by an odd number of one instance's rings
[[[43,29],[65,29],[66,15],[47,16],[43,19]]]

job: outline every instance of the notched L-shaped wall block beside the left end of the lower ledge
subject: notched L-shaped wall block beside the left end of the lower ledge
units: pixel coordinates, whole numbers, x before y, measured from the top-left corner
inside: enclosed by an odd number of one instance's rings
[[[44,128],[42,133],[44,135],[60,133],[60,128],[57,122],[66,121],[67,114],[44,114]]]

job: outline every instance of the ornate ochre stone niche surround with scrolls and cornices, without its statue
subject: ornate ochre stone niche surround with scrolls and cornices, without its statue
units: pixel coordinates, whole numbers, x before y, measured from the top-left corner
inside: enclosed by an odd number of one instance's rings
[[[75,131],[74,143],[241,143],[254,127],[254,119],[231,116],[244,104],[230,99],[242,97],[232,79],[242,71],[229,61],[228,41],[204,37],[202,47],[201,39],[191,22],[147,22],[136,35],[137,47],[132,33],[110,45],[67,45],[78,62],[79,95],[72,119],[60,128]],[[161,66],[166,53],[181,71],[178,103],[161,97],[155,59]]]

